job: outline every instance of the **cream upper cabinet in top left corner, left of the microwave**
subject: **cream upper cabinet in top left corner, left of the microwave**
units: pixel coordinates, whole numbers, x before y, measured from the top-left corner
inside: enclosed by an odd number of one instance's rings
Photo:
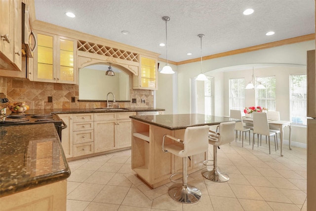
[[[22,1],[0,1],[0,69],[21,71]]]

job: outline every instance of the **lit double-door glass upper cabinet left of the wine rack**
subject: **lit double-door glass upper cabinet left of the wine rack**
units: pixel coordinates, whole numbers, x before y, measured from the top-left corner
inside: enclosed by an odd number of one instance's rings
[[[34,81],[77,84],[77,41],[38,32]]]

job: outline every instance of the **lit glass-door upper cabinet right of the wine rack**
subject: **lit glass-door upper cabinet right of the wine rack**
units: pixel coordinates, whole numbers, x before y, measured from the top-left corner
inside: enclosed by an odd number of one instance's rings
[[[157,90],[157,59],[140,55],[140,71],[133,76],[133,88]]]

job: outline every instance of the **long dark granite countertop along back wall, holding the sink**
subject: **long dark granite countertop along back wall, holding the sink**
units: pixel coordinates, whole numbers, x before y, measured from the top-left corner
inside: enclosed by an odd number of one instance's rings
[[[120,110],[107,110],[107,109],[95,109],[95,108],[71,108],[71,109],[30,109],[24,112],[24,114],[80,114],[80,113],[104,113],[104,112],[140,112],[140,111],[164,111],[160,108],[120,108]],[[8,114],[7,114],[8,115]]]

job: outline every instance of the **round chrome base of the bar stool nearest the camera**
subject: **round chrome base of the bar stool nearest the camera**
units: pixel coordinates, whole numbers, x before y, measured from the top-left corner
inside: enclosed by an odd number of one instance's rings
[[[196,187],[187,185],[183,186],[183,184],[178,183],[169,187],[169,196],[175,201],[181,203],[195,203],[201,198],[201,191]]]

